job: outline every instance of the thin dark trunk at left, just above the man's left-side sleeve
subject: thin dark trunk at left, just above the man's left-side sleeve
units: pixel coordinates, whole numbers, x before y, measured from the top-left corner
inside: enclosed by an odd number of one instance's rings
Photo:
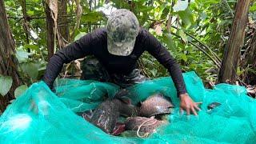
[[[47,30],[47,50],[48,50],[48,61],[54,55],[54,19],[50,15],[50,8],[45,3],[46,11],[46,30]]]

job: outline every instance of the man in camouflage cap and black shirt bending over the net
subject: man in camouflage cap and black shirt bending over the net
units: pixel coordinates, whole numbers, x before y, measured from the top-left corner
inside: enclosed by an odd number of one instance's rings
[[[129,10],[115,10],[110,14],[106,28],[94,30],[54,54],[50,58],[43,80],[52,88],[64,63],[93,55],[97,60],[87,62],[82,79],[114,82],[122,87],[130,86],[145,81],[145,77],[136,69],[136,62],[144,51],[153,55],[170,72],[181,100],[180,110],[197,115],[198,105],[186,93],[178,63],[153,35],[139,27],[138,19]],[[95,63],[98,69],[91,70],[90,66]],[[93,73],[91,77],[87,74],[90,72]]]

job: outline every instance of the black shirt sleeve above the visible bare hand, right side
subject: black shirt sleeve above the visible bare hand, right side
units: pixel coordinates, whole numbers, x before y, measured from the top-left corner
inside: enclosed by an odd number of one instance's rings
[[[186,85],[182,77],[182,70],[179,64],[175,61],[174,57],[170,55],[170,52],[166,50],[164,46],[152,34],[147,30],[144,30],[144,45],[146,51],[154,56],[166,69],[169,71],[171,78],[174,81],[174,85],[177,89],[178,95],[186,93]]]

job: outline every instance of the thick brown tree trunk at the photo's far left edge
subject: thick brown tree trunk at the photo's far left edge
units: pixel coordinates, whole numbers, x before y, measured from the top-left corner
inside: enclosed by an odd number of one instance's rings
[[[14,90],[22,83],[18,77],[18,61],[14,54],[14,38],[10,32],[4,2],[0,0],[0,75],[8,75],[13,78],[13,85],[9,93],[4,97],[0,95],[0,111],[5,110],[10,99],[14,98]]]

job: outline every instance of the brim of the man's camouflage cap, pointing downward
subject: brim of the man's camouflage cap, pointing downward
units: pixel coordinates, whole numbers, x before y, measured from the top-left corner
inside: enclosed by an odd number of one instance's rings
[[[107,50],[110,54],[127,56],[134,50],[135,41],[136,39],[130,42],[122,42],[122,46],[118,46],[110,38],[107,38]]]

